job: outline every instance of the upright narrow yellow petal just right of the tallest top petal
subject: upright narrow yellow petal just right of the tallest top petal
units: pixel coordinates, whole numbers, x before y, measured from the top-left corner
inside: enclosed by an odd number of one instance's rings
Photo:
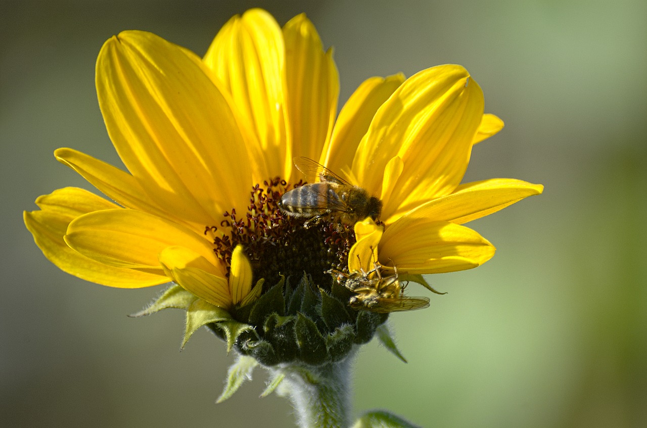
[[[322,41],[305,14],[285,24],[283,38],[292,156],[317,160],[337,114],[339,76],[333,52],[323,52]]]

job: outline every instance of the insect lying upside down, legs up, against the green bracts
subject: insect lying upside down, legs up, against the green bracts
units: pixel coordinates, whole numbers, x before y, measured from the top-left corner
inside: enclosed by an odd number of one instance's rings
[[[330,270],[329,273],[346,288],[355,293],[349,299],[349,305],[356,310],[369,310],[386,314],[404,310],[422,309],[429,306],[427,297],[407,297],[404,295],[404,286],[398,280],[398,272],[393,267],[393,275],[382,277],[382,266],[374,262],[373,269],[369,272],[345,273]]]

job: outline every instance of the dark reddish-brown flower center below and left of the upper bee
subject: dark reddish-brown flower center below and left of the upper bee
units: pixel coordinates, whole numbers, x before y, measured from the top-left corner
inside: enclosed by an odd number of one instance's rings
[[[243,215],[235,209],[225,213],[219,227],[208,226],[208,231],[220,230],[222,237],[214,239],[214,251],[227,266],[231,264],[232,251],[241,244],[252,264],[253,283],[265,279],[263,292],[283,277],[298,281],[303,273],[311,275],[313,283],[329,290],[332,277],[330,269],[345,270],[348,251],[355,243],[351,226],[324,220],[305,228],[304,220],[289,217],[278,208],[281,195],[291,186],[274,178],[256,184],[250,193],[250,205]]]

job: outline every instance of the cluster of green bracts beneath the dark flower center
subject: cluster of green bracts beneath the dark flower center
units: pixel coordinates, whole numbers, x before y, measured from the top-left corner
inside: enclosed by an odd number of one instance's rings
[[[323,365],[346,358],[353,345],[370,341],[388,318],[388,314],[351,310],[345,305],[350,295],[338,283],[327,292],[303,275],[298,281],[281,279],[257,301],[226,312],[173,285],[134,316],[181,308],[187,314],[182,347],[197,328],[207,326],[226,341],[228,350],[253,357],[266,367],[294,361]],[[386,329],[380,330],[379,337],[387,348],[395,348]],[[397,350],[396,354],[402,358]]]

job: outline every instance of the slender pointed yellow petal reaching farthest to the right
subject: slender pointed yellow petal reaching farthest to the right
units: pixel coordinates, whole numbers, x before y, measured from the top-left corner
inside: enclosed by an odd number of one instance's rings
[[[461,184],[451,195],[422,204],[406,216],[463,224],[496,213],[523,198],[539,195],[542,191],[541,184],[514,178],[492,178]],[[389,220],[385,220],[385,223],[389,224]]]

